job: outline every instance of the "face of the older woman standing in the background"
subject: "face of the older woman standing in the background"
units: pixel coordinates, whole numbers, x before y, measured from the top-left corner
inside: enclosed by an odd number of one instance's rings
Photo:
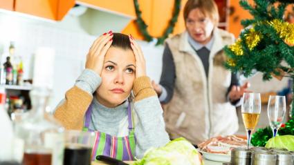
[[[212,38],[214,23],[212,19],[206,17],[199,8],[190,11],[185,25],[187,32],[196,42],[205,45]]]

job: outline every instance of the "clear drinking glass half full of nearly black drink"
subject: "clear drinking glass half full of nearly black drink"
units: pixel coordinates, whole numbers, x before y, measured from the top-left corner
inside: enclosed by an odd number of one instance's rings
[[[66,130],[64,164],[91,165],[91,153],[95,142],[95,133],[80,130]]]

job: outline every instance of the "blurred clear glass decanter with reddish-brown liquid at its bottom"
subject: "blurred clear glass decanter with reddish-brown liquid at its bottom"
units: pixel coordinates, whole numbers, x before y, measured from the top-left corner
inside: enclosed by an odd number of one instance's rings
[[[24,139],[23,165],[62,165],[64,127],[48,113],[49,90],[30,91],[33,109],[15,126],[17,137]]]

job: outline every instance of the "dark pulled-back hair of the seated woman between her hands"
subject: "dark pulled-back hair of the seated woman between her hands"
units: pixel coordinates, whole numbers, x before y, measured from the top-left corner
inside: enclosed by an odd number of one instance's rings
[[[129,36],[122,33],[113,33],[111,46],[122,48],[125,50],[131,50],[131,41],[129,41]]]

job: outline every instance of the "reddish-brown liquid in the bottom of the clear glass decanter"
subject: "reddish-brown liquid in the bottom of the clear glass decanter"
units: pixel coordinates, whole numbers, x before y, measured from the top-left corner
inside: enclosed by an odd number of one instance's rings
[[[23,165],[51,165],[51,153],[24,153]]]

